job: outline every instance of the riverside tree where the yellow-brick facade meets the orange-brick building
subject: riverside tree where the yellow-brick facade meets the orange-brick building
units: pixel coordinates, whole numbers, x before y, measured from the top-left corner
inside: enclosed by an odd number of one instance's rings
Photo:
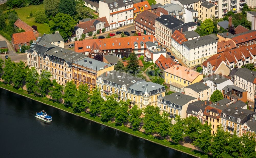
[[[76,84],[73,81],[67,82],[63,94],[63,99],[67,105],[71,106],[73,104],[76,93]]]

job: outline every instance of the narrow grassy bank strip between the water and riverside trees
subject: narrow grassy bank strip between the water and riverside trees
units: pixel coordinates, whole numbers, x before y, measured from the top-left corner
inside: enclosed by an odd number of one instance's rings
[[[191,156],[202,157],[202,158],[210,157],[209,155],[204,154],[204,153],[202,153],[202,152],[200,152],[200,151],[198,151],[196,149],[191,149],[189,147],[185,147],[185,145],[191,147],[192,146],[191,144],[184,144],[184,143],[182,143],[182,145],[176,145],[173,142],[169,142],[167,140],[157,139],[157,138],[155,138],[152,135],[146,135],[145,133],[143,133],[141,131],[133,131],[132,129],[130,129],[127,126],[116,126],[116,124],[113,123],[113,122],[102,122],[100,120],[100,117],[92,117],[88,113],[73,113],[73,109],[65,107],[64,104],[52,102],[48,98],[42,98],[42,97],[38,97],[38,96],[35,96],[35,95],[30,95],[30,94],[28,94],[28,92],[26,90],[23,90],[23,89],[22,90],[17,90],[15,88],[13,88],[13,86],[7,85],[7,84],[5,84],[5,83],[3,83],[1,81],[0,81],[0,88],[5,89],[5,90],[10,91],[10,92],[13,92],[13,93],[16,93],[18,95],[22,95],[22,96],[24,96],[26,98],[35,100],[37,102],[40,102],[40,103],[43,103],[43,104],[55,107],[55,108],[57,108],[59,110],[65,111],[67,113],[70,113],[70,114],[73,114],[73,115],[85,118],[85,119],[93,121],[95,123],[99,123],[99,124],[101,124],[103,126],[116,129],[118,131],[127,133],[129,135],[132,135],[132,136],[135,136],[135,137],[138,137],[138,138],[141,138],[141,139],[144,139],[144,140],[147,140],[147,141],[150,141],[150,142],[162,145],[164,147],[167,147],[167,148],[179,151],[179,152],[186,153],[186,154],[191,155]]]

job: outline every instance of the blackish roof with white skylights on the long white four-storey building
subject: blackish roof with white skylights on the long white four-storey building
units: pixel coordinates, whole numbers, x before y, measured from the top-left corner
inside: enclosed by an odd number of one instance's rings
[[[161,15],[156,18],[157,21],[168,27],[169,29],[174,29],[178,26],[188,27],[185,22],[180,21],[179,19],[171,16],[171,15]]]

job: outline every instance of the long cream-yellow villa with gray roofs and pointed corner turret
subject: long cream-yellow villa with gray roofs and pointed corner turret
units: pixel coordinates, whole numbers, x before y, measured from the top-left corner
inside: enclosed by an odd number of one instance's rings
[[[97,86],[104,100],[106,96],[116,94],[117,101],[130,100],[130,108],[135,104],[139,108],[157,106],[159,95],[165,96],[165,88],[160,84],[146,82],[119,71],[105,72],[97,78]]]

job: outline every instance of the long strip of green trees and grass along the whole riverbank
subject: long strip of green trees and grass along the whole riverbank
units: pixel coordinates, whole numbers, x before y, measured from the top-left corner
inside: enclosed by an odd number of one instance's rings
[[[172,125],[168,113],[163,112],[161,115],[159,107],[147,106],[140,109],[134,105],[129,109],[130,100],[118,102],[117,96],[111,95],[104,101],[98,89],[90,92],[86,84],[80,84],[77,89],[71,81],[62,87],[56,80],[50,80],[51,74],[48,71],[42,71],[39,75],[34,67],[29,69],[23,62],[14,63],[10,59],[5,60],[5,67],[2,69],[3,64],[4,61],[0,59],[0,74],[6,83],[1,83],[1,87],[24,93],[39,101],[51,102],[50,104],[56,107],[87,118],[90,117],[90,119],[124,131],[133,132],[135,135],[138,132],[137,134],[140,136],[153,139],[156,142],[160,141],[161,144],[167,144],[167,146],[179,150],[184,150],[184,147],[178,143],[184,138],[189,138],[195,147],[205,153],[210,153],[208,155],[186,148],[185,152],[199,157],[256,157],[256,141],[253,133],[251,136],[247,134],[240,138],[236,134],[231,135],[224,132],[219,126],[217,133],[212,136],[211,125],[202,125],[193,116],[180,119],[180,116],[177,115],[176,123]],[[23,87],[26,87],[26,93],[22,89]],[[50,96],[51,99],[47,99],[46,96]],[[131,129],[126,129],[125,126],[129,126]]]

